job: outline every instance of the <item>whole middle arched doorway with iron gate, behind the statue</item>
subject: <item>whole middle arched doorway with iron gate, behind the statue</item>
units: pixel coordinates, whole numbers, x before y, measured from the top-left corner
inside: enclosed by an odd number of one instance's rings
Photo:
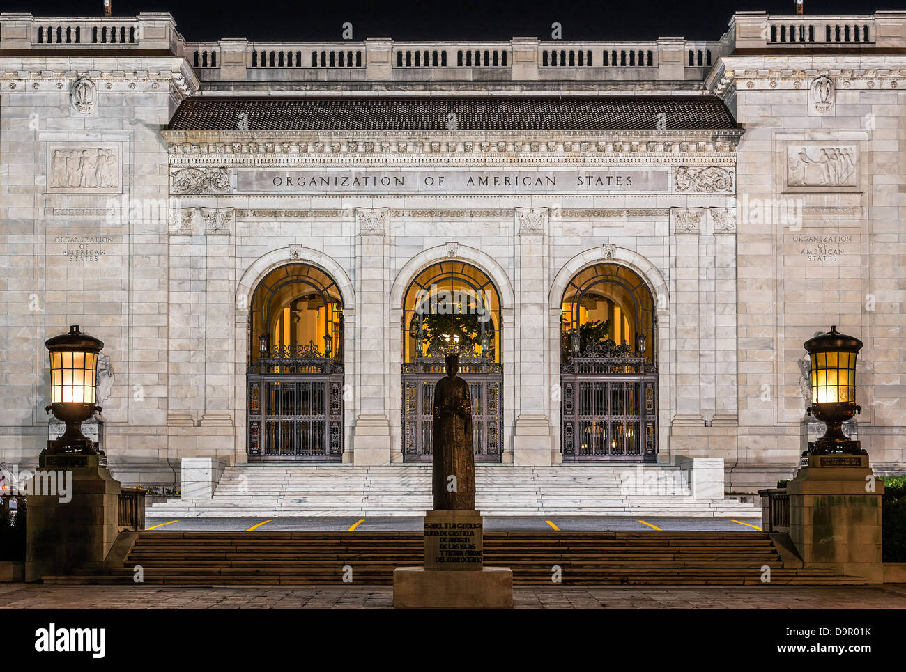
[[[445,261],[419,273],[403,297],[402,453],[430,462],[434,386],[445,375],[444,353],[459,354],[459,375],[472,395],[477,462],[503,452],[503,364],[500,297],[483,271]]]

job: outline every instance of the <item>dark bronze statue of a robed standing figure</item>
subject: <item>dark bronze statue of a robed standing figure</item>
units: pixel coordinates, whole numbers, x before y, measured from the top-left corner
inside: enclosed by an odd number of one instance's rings
[[[459,356],[445,360],[447,376],[434,388],[434,510],[475,511],[472,399],[468,383],[457,376]]]

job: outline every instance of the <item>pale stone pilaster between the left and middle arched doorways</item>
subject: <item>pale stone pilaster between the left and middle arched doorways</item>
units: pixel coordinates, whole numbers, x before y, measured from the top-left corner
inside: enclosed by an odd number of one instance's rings
[[[358,207],[355,240],[355,360],[358,416],[352,462],[390,464],[390,208]]]

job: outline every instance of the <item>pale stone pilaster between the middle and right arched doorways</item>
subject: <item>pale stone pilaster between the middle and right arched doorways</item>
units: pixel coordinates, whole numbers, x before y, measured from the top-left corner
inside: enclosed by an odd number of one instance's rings
[[[517,466],[548,466],[552,459],[553,439],[548,413],[551,395],[544,363],[544,353],[548,351],[545,314],[550,286],[547,225],[546,207],[516,207],[513,461]]]

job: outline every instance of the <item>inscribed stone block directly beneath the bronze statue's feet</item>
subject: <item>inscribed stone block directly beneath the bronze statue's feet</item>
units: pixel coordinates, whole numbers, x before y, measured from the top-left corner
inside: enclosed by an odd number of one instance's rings
[[[431,511],[425,516],[425,569],[482,568],[481,515],[474,511]]]

